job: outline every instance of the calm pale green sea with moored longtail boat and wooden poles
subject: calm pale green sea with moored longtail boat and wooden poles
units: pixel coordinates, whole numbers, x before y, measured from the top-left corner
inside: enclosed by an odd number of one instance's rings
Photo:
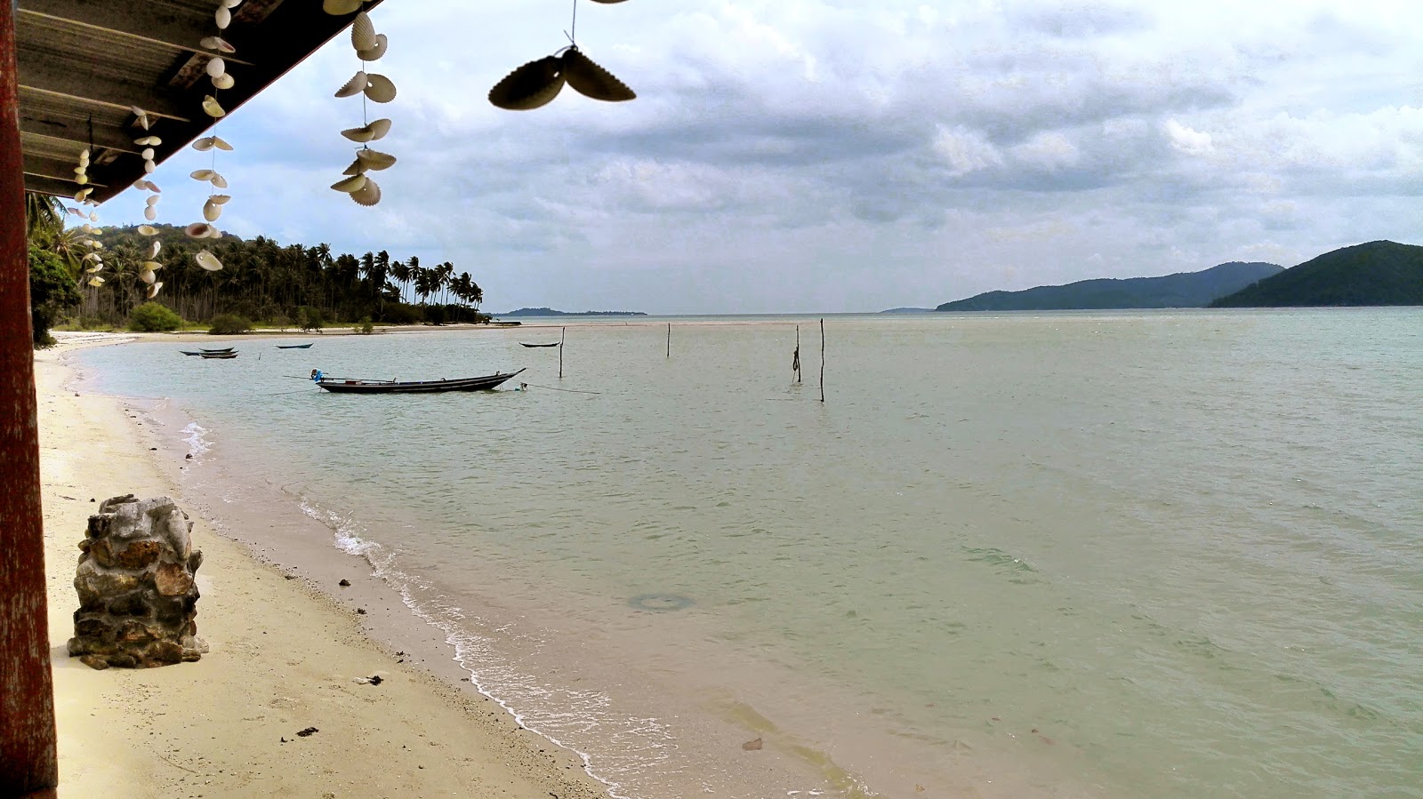
[[[612,796],[1423,798],[1423,309],[211,345],[73,363]]]

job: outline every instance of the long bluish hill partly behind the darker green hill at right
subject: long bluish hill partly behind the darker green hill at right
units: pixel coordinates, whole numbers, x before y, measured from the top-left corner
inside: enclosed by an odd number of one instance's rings
[[[1202,309],[1211,301],[1279,274],[1274,263],[1231,262],[1204,272],[1178,272],[1164,277],[1103,277],[1066,286],[1039,286],[1023,291],[989,291],[943,303],[941,311],[1060,311],[1109,309]]]

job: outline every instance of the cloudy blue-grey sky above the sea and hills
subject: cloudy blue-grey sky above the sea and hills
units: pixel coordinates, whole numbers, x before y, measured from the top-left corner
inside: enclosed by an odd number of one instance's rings
[[[222,121],[219,226],[450,260],[491,311],[653,314],[933,307],[1423,243],[1417,0],[579,0],[579,48],[638,98],[492,107],[568,44],[572,7],[387,0],[380,205],[329,188],[363,124],[333,97],[360,68],[337,37]],[[201,220],[188,172],[209,165],[159,165],[159,222]],[[142,222],[144,196],[104,223]]]

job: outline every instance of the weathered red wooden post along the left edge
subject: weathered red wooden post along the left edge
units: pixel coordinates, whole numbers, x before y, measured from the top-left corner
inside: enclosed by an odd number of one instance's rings
[[[30,259],[14,55],[0,0],[0,796],[54,796],[54,684],[44,599]]]

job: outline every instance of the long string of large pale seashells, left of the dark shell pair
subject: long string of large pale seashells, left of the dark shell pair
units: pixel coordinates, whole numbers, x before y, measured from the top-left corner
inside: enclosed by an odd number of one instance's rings
[[[396,156],[371,149],[370,142],[390,132],[390,119],[370,121],[366,107],[367,101],[384,104],[396,100],[396,84],[386,75],[367,71],[367,65],[386,54],[388,38],[383,33],[376,33],[376,24],[364,10],[364,0],[323,0],[322,9],[337,17],[356,13],[356,18],[351,20],[351,48],[361,63],[351,80],[336,90],[336,97],[361,95],[361,127],[342,131],[343,136],[361,146],[356,151],[356,161],[342,172],[346,178],[332,183],[332,188],[350,195],[357,205],[376,205],[380,202],[380,185],[369,172],[391,168]]]

